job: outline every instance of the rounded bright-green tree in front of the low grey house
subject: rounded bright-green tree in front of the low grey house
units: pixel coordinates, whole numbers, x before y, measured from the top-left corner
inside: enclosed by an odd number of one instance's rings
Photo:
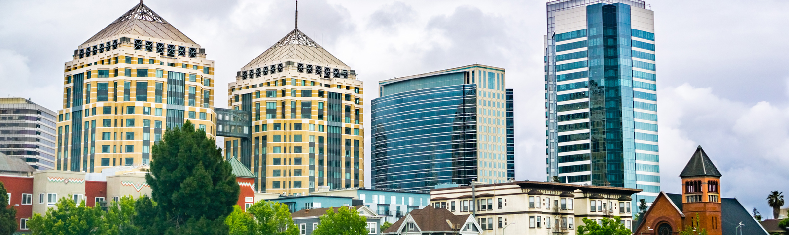
[[[348,207],[339,207],[335,213],[334,208],[329,208],[326,214],[320,216],[320,223],[312,235],[356,235],[367,234],[367,218],[359,215],[356,210]]]

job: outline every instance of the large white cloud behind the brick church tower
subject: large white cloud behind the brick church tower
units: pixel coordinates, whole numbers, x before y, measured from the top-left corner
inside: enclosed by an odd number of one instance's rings
[[[700,143],[724,174],[724,197],[737,197],[750,211],[769,210],[765,197],[786,190],[789,175],[789,107],[750,105],[689,83],[660,89],[660,175],[665,192],[681,193],[679,173]]]

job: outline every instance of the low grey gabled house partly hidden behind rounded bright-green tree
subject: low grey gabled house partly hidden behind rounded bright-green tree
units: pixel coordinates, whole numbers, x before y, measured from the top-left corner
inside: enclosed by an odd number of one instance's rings
[[[294,212],[290,216],[294,218],[294,223],[299,229],[299,234],[310,235],[312,234],[312,230],[318,228],[318,225],[320,224],[320,216],[326,214],[326,211],[329,211],[330,209],[333,209],[336,213],[339,207],[324,207],[314,209],[305,208],[301,211]],[[365,205],[353,205],[350,206],[349,209],[359,212],[359,215],[364,216],[367,219],[368,234],[381,234],[380,225],[381,218],[383,218],[383,216],[376,214],[375,211],[370,210],[370,208],[366,207]]]

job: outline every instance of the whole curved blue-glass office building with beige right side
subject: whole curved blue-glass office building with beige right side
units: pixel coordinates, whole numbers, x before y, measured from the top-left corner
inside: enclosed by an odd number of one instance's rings
[[[514,179],[504,74],[473,64],[380,81],[371,106],[372,186],[426,191]]]

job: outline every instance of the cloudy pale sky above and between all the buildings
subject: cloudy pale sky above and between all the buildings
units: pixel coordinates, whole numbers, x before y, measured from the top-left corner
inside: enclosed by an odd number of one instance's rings
[[[356,70],[368,91],[383,79],[469,64],[506,68],[516,179],[544,181],[545,2],[302,0],[299,29]],[[0,0],[0,97],[60,109],[63,63],[136,3]],[[206,48],[218,90],[294,28],[294,1],[145,4]],[[677,175],[702,145],[724,174],[723,196],[771,218],[768,193],[789,193],[789,2],[647,4],[656,19],[662,189],[681,193]],[[367,92],[365,103],[376,97]],[[225,101],[217,93],[217,107]]]

